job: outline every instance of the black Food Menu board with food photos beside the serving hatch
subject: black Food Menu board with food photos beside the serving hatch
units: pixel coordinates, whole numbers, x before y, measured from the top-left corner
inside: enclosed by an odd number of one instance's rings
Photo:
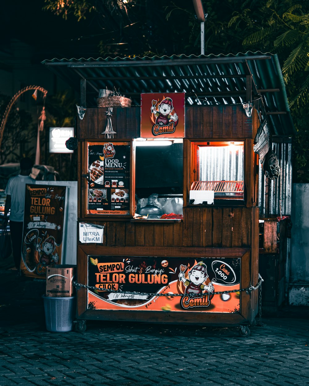
[[[130,142],[88,142],[87,214],[130,213]]]

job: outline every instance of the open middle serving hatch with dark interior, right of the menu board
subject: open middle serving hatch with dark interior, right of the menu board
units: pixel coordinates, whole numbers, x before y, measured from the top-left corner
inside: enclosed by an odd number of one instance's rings
[[[181,219],[183,140],[144,139],[135,141],[135,146],[136,214],[149,221]]]

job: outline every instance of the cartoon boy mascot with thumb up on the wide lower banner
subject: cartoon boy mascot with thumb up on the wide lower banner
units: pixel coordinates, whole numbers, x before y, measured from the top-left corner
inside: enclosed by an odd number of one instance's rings
[[[194,296],[199,293],[202,293],[203,290],[207,290],[207,292],[209,293],[212,293],[214,291],[214,286],[212,285],[212,283],[209,283],[208,285],[203,284],[208,278],[207,267],[203,262],[199,262],[198,264],[196,264],[191,269],[188,275],[189,277],[188,279],[186,279],[185,274],[182,270],[178,275],[179,280],[183,281],[183,284],[185,284],[186,286],[185,293]]]

